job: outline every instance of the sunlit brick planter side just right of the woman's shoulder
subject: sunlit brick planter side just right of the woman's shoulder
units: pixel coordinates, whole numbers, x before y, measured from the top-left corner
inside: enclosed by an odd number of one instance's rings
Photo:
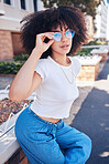
[[[99,73],[99,63],[96,65],[81,65],[77,76],[78,81],[95,81]]]

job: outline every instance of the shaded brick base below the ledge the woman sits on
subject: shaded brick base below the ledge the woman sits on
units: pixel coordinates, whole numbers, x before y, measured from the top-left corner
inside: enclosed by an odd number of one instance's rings
[[[4,164],[30,164],[30,162],[20,147]]]

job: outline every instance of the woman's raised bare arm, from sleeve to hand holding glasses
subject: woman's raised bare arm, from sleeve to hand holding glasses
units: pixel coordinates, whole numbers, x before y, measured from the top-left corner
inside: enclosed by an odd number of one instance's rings
[[[42,78],[34,70],[42,53],[45,52],[54,42],[53,33],[54,32],[45,32],[37,34],[36,47],[33,49],[30,58],[20,69],[11,83],[9,91],[10,100],[20,102],[31,95],[31,93],[40,85]],[[51,39],[48,43],[44,42],[46,37]]]

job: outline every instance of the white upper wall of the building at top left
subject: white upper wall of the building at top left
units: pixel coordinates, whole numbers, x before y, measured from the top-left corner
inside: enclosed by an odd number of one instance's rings
[[[26,10],[21,9],[20,0],[11,0],[12,6],[0,2],[0,9],[3,9],[4,16],[0,16],[0,29],[20,31],[20,21],[31,12],[34,12],[33,0],[25,0]],[[43,2],[37,0],[37,10],[44,10]]]

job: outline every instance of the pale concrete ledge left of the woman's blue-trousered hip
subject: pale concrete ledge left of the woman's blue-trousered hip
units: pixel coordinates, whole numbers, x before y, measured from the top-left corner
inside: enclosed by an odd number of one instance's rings
[[[0,164],[6,163],[13,154],[17,152],[17,150],[20,147],[17,137],[14,135],[14,124],[19,116],[19,114],[22,111],[20,111],[18,114],[12,116],[10,119],[9,125],[7,127],[7,131],[0,132]],[[4,122],[2,125],[0,125],[0,130],[4,130],[7,122]]]

